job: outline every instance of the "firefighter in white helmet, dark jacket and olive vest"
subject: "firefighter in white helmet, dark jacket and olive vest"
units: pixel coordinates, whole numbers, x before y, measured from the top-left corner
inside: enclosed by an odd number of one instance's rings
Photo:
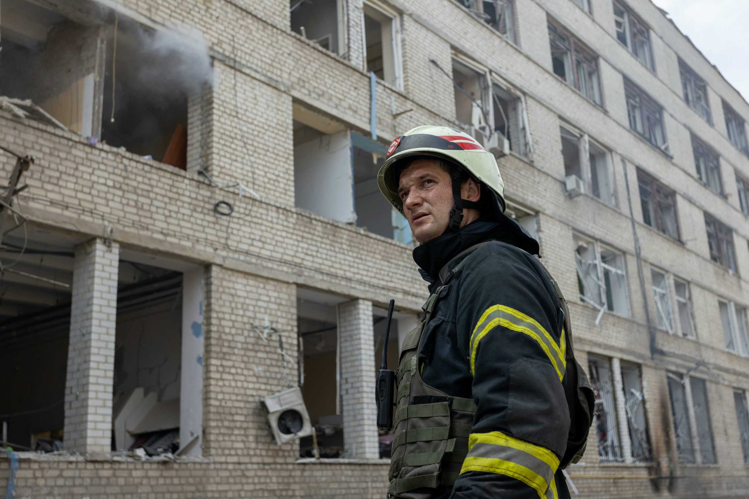
[[[592,390],[539,244],[504,213],[494,155],[419,126],[392,142],[377,183],[431,293],[395,376],[389,497],[568,498],[562,469],[584,451]]]

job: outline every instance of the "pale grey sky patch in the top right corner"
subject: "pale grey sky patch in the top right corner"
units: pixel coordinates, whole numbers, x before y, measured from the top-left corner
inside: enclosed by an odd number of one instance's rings
[[[653,0],[749,100],[749,1]]]

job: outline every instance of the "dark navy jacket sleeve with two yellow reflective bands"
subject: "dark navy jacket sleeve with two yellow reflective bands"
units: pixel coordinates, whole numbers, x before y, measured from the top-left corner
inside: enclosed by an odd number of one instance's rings
[[[453,499],[557,499],[570,426],[563,316],[534,263],[495,250],[462,279],[457,326],[478,408]]]

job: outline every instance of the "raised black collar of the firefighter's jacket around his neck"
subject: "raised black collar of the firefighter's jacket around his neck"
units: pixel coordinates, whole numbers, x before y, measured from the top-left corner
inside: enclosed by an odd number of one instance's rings
[[[419,266],[419,273],[425,281],[439,280],[440,269],[455,255],[479,242],[496,239],[521,248],[530,254],[539,253],[539,243],[527,230],[507,215],[499,220],[479,218],[461,230],[448,230],[441,236],[413,248],[413,260]]]

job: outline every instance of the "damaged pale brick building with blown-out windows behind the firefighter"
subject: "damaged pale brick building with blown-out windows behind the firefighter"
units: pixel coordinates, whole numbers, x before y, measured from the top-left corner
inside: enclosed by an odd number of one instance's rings
[[[0,48],[8,497],[383,497],[425,123],[568,299],[572,493],[749,495],[749,104],[649,0],[0,0]]]

